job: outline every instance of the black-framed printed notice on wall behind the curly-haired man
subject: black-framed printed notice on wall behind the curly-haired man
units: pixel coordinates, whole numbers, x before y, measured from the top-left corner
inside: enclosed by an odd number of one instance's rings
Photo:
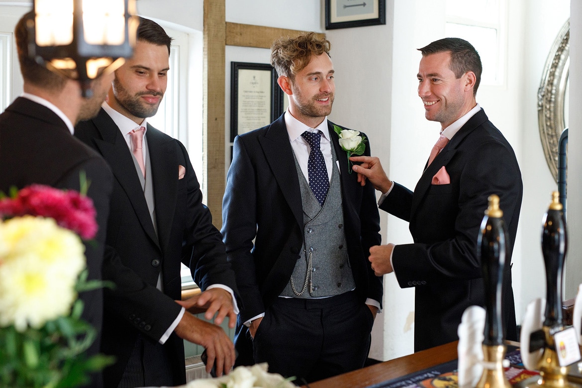
[[[230,141],[283,113],[283,91],[269,64],[230,62]]]

